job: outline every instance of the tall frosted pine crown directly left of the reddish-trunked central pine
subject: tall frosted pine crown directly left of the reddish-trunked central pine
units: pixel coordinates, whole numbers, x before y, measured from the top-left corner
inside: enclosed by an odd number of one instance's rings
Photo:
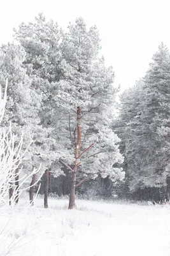
[[[56,108],[53,108],[53,98],[57,90],[54,83],[62,77],[60,31],[56,22],[46,21],[44,15],[39,13],[34,22],[22,22],[18,30],[15,29],[15,38],[26,52],[24,67],[27,68],[27,74],[32,80],[31,88],[39,95],[38,117],[43,127],[41,138],[46,140],[47,135],[48,148],[51,149],[46,151],[44,156],[53,161],[55,149],[59,148],[59,143],[53,139],[52,131],[55,130],[55,125],[52,116],[53,111],[56,112]],[[57,115],[55,113],[55,119],[58,118],[59,111]],[[50,168],[50,165],[46,167]],[[60,175],[60,172],[55,172],[55,175]]]

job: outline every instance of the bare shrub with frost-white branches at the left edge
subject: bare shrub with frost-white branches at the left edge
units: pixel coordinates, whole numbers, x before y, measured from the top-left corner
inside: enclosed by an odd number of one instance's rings
[[[6,104],[6,88],[4,92],[4,98],[2,99],[0,90],[0,120],[2,121],[4,115],[4,108]],[[11,131],[11,125],[8,129],[0,128],[0,206],[4,204],[15,203],[18,197],[24,190],[22,185],[27,182],[27,179],[36,175],[39,169],[34,169],[29,175],[22,176],[18,179],[22,172],[21,163],[24,160],[25,152],[22,153],[23,136],[18,141]],[[17,180],[16,180],[17,178]],[[16,185],[17,182],[17,185]],[[20,184],[18,184],[20,182]],[[35,185],[35,184],[34,184]],[[28,189],[28,188],[26,188]],[[10,199],[9,199],[10,191]]]

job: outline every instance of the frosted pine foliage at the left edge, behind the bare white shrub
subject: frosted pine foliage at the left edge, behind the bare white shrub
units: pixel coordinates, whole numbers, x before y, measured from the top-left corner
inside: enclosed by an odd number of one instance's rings
[[[10,121],[18,138],[24,132],[22,150],[25,150],[28,143],[33,140],[27,151],[27,161],[23,163],[25,172],[31,172],[32,168],[39,168],[40,163],[42,166],[48,166],[50,148],[48,131],[43,131],[38,117],[39,97],[36,90],[31,87],[31,79],[24,67],[24,60],[25,51],[20,45],[8,44],[1,47],[0,83],[3,88],[8,77],[8,100],[3,125],[8,126]]]

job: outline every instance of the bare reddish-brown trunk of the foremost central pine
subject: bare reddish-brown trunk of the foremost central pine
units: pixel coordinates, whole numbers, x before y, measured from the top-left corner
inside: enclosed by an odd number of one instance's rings
[[[73,209],[75,205],[75,190],[76,190],[76,172],[77,167],[80,159],[78,158],[81,146],[81,129],[80,129],[80,107],[77,108],[77,143],[75,148],[75,161],[74,161],[74,168],[71,175],[71,186],[70,186],[70,193],[69,193],[69,209]]]

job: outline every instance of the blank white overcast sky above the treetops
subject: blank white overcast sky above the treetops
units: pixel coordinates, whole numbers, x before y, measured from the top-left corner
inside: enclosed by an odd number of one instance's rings
[[[81,16],[88,26],[97,25],[106,65],[124,90],[145,75],[160,42],[170,49],[169,7],[169,0],[0,0],[0,44],[39,12],[62,28]]]

